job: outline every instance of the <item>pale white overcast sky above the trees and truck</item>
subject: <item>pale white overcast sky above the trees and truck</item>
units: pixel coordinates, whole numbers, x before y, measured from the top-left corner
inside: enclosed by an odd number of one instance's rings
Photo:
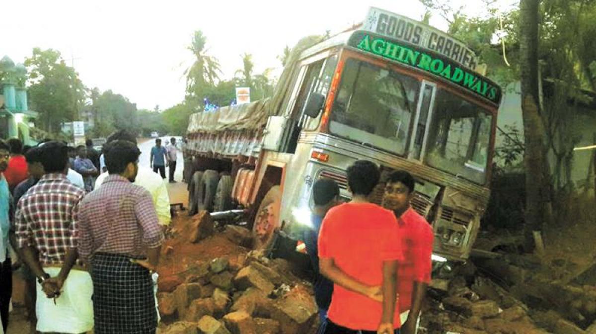
[[[480,1],[453,2],[471,15],[484,10]],[[0,58],[22,63],[33,47],[52,48],[89,88],[111,89],[138,109],[163,110],[184,99],[195,30],[207,36],[207,53],[230,79],[244,52],[253,55],[254,73],[268,67],[280,72],[277,56],[286,45],[359,23],[370,6],[417,20],[424,14],[417,0],[3,1],[2,11],[10,14],[0,20]],[[430,23],[447,28],[439,15]]]

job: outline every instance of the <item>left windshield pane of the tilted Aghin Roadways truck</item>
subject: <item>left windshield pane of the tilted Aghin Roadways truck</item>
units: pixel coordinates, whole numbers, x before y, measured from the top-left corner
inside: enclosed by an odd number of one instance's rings
[[[403,155],[419,89],[417,79],[349,59],[329,129],[341,137]]]

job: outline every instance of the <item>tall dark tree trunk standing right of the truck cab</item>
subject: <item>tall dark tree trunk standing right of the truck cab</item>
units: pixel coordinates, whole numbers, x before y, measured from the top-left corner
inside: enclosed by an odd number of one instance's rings
[[[550,212],[548,161],[544,147],[545,128],[541,118],[538,89],[539,0],[520,1],[520,70],[526,167],[526,250],[533,250],[533,231],[542,231]]]

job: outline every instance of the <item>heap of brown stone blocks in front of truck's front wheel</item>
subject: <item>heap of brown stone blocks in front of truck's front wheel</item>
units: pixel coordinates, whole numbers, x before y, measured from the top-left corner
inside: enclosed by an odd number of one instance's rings
[[[214,233],[203,216],[191,225],[198,235],[187,234],[188,241]],[[224,234],[237,245],[250,245],[246,228],[228,225]],[[284,259],[255,252],[222,256],[188,268],[178,286],[168,285],[160,284],[158,293],[162,334],[303,334],[318,326],[312,287],[294,276]]]

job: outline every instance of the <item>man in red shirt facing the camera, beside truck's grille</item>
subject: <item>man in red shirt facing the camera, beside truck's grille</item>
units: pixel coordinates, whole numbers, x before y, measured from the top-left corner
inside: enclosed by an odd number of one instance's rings
[[[406,171],[389,175],[383,196],[383,207],[398,217],[404,259],[398,265],[399,312],[401,334],[417,332],[418,316],[430,283],[434,233],[429,222],[410,206],[415,181]]]

